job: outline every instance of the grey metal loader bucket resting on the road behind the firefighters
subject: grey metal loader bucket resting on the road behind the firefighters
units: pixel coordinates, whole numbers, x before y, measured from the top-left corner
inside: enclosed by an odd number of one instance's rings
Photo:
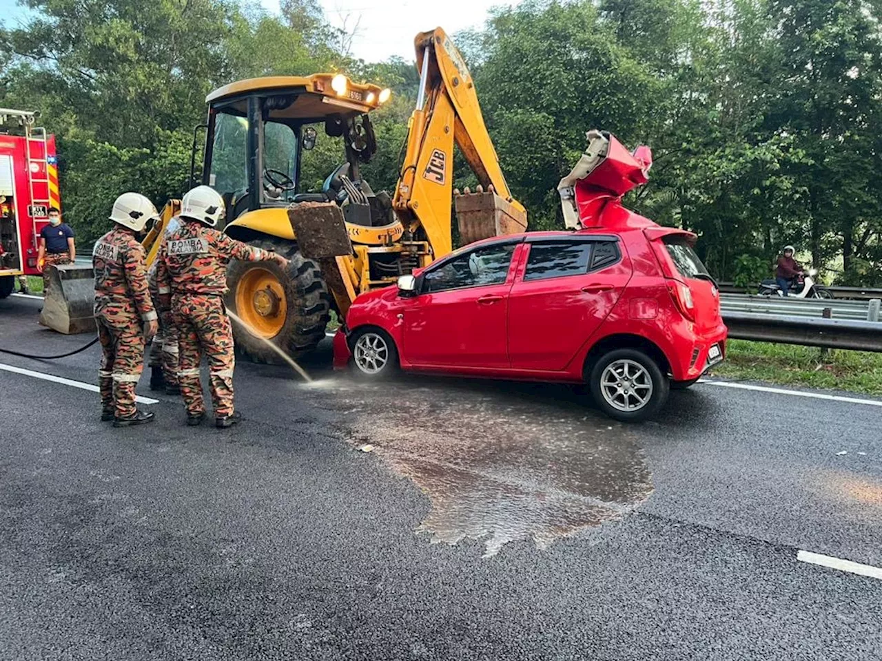
[[[41,325],[65,335],[95,331],[92,264],[64,264],[47,268],[49,289],[43,292]]]

